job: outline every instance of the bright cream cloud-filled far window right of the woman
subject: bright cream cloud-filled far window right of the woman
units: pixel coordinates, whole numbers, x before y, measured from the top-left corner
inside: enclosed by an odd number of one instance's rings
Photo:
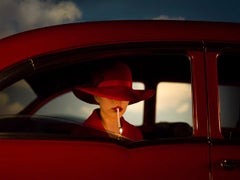
[[[191,84],[161,82],[157,86],[156,123],[185,122],[192,126]]]

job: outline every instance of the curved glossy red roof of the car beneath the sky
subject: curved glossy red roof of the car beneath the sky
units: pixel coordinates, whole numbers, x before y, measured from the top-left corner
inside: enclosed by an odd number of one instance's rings
[[[25,31],[0,40],[0,70],[27,58],[75,48],[130,42],[237,42],[240,23],[119,20],[79,22]]]

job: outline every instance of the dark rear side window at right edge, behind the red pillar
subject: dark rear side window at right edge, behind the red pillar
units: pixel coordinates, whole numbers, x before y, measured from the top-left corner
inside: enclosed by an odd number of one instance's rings
[[[240,138],[240,55],[218,57],[220,121],[226,139]]]

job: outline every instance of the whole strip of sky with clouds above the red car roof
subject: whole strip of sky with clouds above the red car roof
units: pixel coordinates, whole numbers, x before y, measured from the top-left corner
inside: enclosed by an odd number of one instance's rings
[[[0,38],[56,24],[125,19],[240,22],[240,1],[1,0]]]

